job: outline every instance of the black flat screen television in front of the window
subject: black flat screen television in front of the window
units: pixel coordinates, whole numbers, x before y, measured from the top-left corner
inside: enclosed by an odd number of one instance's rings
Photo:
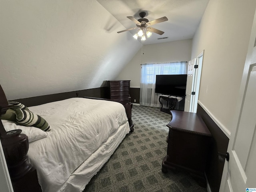
[[[156,93],[185,96],[187,75],[156,75]]]

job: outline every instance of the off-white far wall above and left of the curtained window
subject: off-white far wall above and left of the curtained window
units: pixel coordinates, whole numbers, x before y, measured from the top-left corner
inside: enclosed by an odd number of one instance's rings
[[[120,72],[116,80],[131,80],[131,87],[140,87],[141,64],[189,61],[191,49],[191,39],[145,45]]]

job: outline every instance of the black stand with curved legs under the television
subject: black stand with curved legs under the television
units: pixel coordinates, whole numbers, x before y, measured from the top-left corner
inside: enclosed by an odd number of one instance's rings
[[[163,103],[161,102],[161,99],[167,101],[167,106],[169,104],[169,108],[163,108]],[[174,108],[176,107],[176,103],[180,102],[183,98],[180,96],[172,96],[172,95],[164,95],[164,94],[160,94],[159,95],[159,102],[161,104],[161,108],[160,111],[171,114],[170,110],[174,110]]]

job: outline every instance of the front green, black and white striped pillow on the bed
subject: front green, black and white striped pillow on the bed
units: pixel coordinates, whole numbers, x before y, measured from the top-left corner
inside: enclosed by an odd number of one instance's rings
[[[44,118],[28,110],[16,110],[16,122],[19,125],[32,126],[40,128],[43,131],[50,131],[50,126]]]

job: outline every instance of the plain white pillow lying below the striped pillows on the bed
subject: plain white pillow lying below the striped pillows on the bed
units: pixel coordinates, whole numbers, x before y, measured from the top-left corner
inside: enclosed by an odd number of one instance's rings
[[[2,124],[6,131],[11,131],[14,129],[22,130],[21,133],[26,134],[26,136],[28,136],[28,142],[33,142],[42,138],[46,138],[51,134],[51,132],[44,132],[43,130],[35,127],[24,127],[21,125],[17,125],[16,123],[8,120],[2,120]]]

